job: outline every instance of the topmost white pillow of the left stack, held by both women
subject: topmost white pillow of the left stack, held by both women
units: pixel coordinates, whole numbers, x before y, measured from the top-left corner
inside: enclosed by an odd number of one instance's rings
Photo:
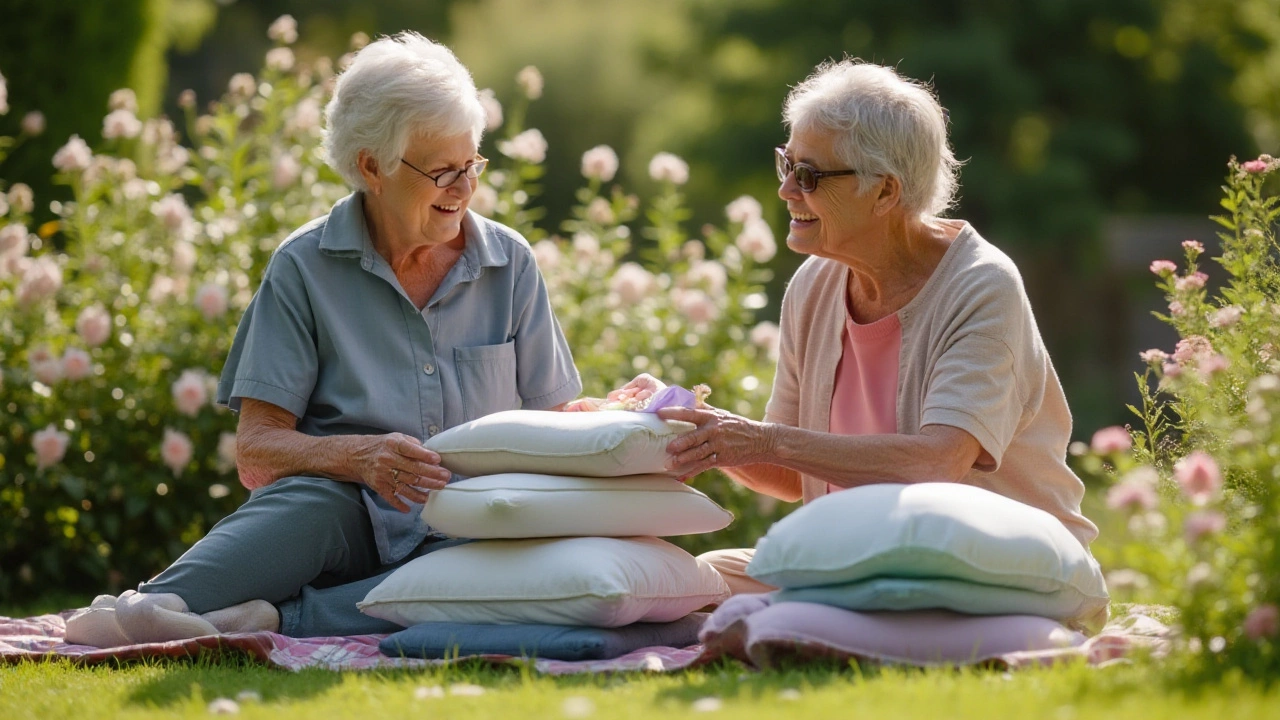
[[[694,429],[652,413],[504,410],[428,438],[460,475],[547,473],[582,478],[669,474],[667,443]]]

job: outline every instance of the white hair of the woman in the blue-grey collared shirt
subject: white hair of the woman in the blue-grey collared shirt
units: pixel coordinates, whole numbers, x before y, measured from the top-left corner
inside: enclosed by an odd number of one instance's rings
[[[394,174],[412,136],[470,132],[479,145],[484,122],[475,81],[457,56],[404,31],[365,46],[338,77],[325,108],[325,155],[347,184],[369,190],[356,167],[361,150]]]

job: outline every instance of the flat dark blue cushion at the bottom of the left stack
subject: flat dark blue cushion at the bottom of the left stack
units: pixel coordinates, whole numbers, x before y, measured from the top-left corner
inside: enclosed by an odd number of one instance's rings
[[[696,644],[707,616],[691,612],[672,623],[632,623],[621,628],[420,623],[388,635],[378,647],[392,657],[428,660],[467,655],[613,660],[644,647]]]

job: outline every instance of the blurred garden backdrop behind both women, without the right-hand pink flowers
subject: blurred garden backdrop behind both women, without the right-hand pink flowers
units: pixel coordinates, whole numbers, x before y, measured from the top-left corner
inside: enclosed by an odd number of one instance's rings
[[[1174,293],[1152,260],[1216,254],[1224,177],[1253,173],[1228,160],[1280,155],[1280,0],[0,0],[0,612],[132,587],[243,501],[210,382],[270,251],[346,192],[326,83],[401,29],[490,91],[472,209],[536,243],[590,395],[652,372],[762,415],[803,260],[772,147],[824,59],[933,83],[966,163],[954,215],[1021,269],[1083,442],[1137,421],[1139,351],[1199,332],[1152,316]],[[1258,202],[1266,173],[1240,186]],[[1274,245],[1267,211],[1236,231]],[[1235,277],[1198,269],[1207,292]],[[1094,460],[1103,514],[1128,465]],[[739,521],[692,551],[787,510],[700,484]]]

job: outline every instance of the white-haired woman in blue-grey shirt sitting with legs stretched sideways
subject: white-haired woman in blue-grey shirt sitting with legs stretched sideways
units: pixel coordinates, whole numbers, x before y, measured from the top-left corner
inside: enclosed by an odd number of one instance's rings
[[[484,124],[447,47],[404,32],[356,55],[325,137],[355,192],[275,251],[219,383],[252,495],[137,593],[73,619],[69,642],[399,629],[356,603],[457,542],[421,521],[451,479],[422,441],[581,392],[527,241],[467,210]]]

